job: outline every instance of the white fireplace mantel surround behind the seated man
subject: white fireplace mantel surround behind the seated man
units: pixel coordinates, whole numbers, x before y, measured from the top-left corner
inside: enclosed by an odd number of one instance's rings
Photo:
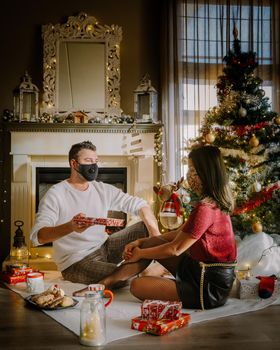
[[[15,220],[24,222],[28,245],[35,219],[36,168],[68,167],[68,152],[75,143],[89,140],[95,144],[100,167],[126,167],[128,192],[153,203],[153,185],[159,175],[154,161],[155,134],[161,131],[161,125],[17,123],[8,129],[12,156],[11,224],[13,227]],[[37,252],[34,248],[32,251]]]

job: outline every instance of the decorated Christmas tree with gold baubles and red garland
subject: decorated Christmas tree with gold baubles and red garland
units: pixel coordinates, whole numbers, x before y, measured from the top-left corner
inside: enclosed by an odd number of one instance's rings
[[[255,75],[256,53],[242,52],[236,29],[233,34],[233,49],[216,84],[219,105],[207,111],[192,146],[212,144],[222,151],[236,201],[235,233],[279,234],[280,116]]]

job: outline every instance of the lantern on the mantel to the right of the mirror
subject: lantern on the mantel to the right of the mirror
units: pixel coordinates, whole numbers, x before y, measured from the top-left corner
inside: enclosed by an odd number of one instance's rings
[[[146,74],[134,90],[134,113],[139,123],[157,121],[157,91]]]

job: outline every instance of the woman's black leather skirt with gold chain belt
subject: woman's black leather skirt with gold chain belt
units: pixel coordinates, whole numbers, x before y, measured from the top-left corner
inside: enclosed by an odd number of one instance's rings
[[[235,263],[203,263],[185,255],[176,274],[178,295],[184,308],[212,309],[228,299],[235,280]]]

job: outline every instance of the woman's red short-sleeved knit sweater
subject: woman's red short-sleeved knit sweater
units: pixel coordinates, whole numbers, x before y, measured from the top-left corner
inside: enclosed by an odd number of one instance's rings
[[[194,260],[203,262],[233,262],[236,244],[229,215],[213,204],[199,202],[183,231],[197,241],[191,246]]]

